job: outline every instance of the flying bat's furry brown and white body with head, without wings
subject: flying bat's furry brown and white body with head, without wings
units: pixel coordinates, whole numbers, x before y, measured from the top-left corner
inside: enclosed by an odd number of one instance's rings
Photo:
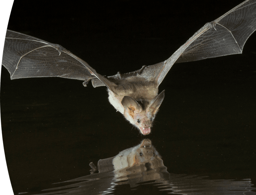
[[[158,95],[155,80],[139,75],[126,78],[120,75],[114,83],[118,87],[108,89],[109,102],[142,134],[150,133],[152,121],[164,99],[164,91]]]

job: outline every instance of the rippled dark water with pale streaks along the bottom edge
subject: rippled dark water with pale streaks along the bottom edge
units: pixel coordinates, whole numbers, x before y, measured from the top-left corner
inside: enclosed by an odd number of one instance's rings
[[[166,167],[165,167],[166,168]],[[54,184],[53,188],[41,191],[40,195],[68,193],[82,194],[216,194],[253,195],[250,179],[207,179],[185,174],[169,174],[166,170],[153,169],[144,172],[127,170],[127,174],[107,172],[72,179]],[[123,173],[123,172],[121,172]],[[58,186],[58,187],[56,187]],[[24,194],[24,193],[20,193]],[[25,193],[29,194],[29,193]]]

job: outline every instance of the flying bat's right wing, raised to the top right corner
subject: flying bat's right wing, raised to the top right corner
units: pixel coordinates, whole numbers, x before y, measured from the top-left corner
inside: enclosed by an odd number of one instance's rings
[[[256,0],[246,0],[220,18],[206,23],[164,62],[148,66],[141,75],[152,76],[158,85],[175,62],[189,62],[242,53],[248,37],[256,30]]]

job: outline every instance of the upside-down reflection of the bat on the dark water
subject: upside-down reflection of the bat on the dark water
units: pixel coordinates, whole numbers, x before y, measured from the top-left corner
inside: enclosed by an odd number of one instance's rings
[[[160,154],[151,144],[150,139],[144,139],[134,147],[125,149],[112,158],[101,159],[97,163],[97,167],[91,162],[90,167],[93,172],[107,172],[133,167],[141,163],[149,163],[155,159],[160,159]]]

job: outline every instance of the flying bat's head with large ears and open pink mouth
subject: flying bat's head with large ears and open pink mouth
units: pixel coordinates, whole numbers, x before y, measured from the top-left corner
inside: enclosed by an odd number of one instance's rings
[[[164,90],[151,99],[150,102],[140,101],[140,104],[132,97],[124,96],[121,102],[124,106],[124,117],[138,128],[143,135],[148,135],[163,99]]]

